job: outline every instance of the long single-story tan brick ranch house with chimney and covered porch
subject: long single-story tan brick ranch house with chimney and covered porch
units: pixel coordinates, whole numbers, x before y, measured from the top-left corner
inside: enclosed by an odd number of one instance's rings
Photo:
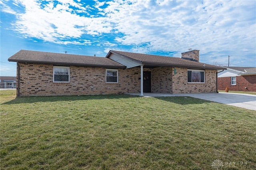
[[[226,69],[199,63],[199,50],[182,53],[182,58],[112,50],[106,57],[21,50],[8,61],[17,62],[18,96],[217,92],[217,70]]]

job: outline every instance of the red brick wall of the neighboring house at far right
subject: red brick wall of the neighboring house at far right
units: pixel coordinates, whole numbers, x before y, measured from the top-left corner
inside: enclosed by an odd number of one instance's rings
[[[225,90],[226,86],[229,90],[256,92],[256,75],[236,76],[236,85],[231,85],[231,77],[219,77],[218,90]]]

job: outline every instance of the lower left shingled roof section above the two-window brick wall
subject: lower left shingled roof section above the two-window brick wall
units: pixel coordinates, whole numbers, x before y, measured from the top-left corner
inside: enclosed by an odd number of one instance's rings
[[[70,55],[28,50],[18,51],[18,53],[12,55],[8,61],[16,61],[20,63],[126,68],[126,66],[107,59],[106,57],[92,57],[85,55]]]

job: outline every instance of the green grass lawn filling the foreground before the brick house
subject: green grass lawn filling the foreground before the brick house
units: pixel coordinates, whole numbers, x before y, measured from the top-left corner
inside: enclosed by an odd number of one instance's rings
[[[190,97],[15,93],[0,91],[2,170],[256,169],[253,110]]]

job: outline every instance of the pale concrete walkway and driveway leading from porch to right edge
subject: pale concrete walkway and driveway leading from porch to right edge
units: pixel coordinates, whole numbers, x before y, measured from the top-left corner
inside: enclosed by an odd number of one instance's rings
[[[127,93],[140,96],[140,93]],[[197,93],[197,94],[166,94],[166,93],[144,93],[144,97],[171,97],[190,96],[193,98],[209,100],[222,104],[256,110],[256,95],[240,93]]]

